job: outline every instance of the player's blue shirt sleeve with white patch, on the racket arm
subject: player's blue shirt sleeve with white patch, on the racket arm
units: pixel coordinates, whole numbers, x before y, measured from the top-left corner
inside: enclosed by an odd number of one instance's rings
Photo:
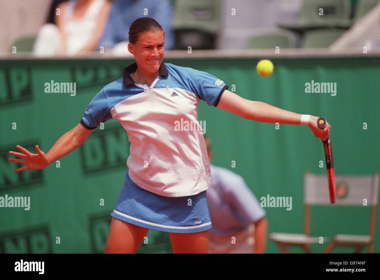
[[[199,99],[206,101],[209,106],[218,106],[220,97],[228,88],[222,80],[203,71],[188,68],[185,73],[188,78],[188,87]]]

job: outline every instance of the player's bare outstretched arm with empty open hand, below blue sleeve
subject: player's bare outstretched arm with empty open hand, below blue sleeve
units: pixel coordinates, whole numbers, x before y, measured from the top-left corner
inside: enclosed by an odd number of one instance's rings
[[[9,161],[26,164],[26,166],[15,169],[14,171],[16,172],[28,169],[43,169],[50,163],[55,162],[59,158],[64,157],[81,146],[92,131],[93,130],[87,129],[79,123],[72,130],[63,134],[57,142],[55,142],[47,154],[41,151],[38,145],[35,146],[37,154],[32,154],[24,147],[17,145],[17,149],[19,149],[22,153],[9,151],[9,154],[19,157],[20,159],[9,158]]]

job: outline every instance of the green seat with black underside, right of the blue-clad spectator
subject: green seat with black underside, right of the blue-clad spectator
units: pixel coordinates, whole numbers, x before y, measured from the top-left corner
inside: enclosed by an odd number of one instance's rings
[[[175,48],[215,48],[220,29],[220,13],[220,3],[217,0],[177,0],[173,22]]]

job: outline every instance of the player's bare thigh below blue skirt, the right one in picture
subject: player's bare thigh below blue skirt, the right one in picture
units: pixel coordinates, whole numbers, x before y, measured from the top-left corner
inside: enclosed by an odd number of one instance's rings
[[[174,254],[208,254],[209,231],[191,234],[170,233]]]

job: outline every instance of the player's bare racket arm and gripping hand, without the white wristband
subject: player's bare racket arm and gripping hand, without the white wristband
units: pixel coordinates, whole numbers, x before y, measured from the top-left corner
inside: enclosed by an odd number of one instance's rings
[[[283,110],[261,101],[244,99],[229,90],[223,92],[217,107],[256,122],[301,124],[301,114]],[[331,126],[327,124],[326,128],[321,130],[317,126],[317,120],[318,117],[310,115],[308,126],[315,137],[325,140],[329,136]]]

